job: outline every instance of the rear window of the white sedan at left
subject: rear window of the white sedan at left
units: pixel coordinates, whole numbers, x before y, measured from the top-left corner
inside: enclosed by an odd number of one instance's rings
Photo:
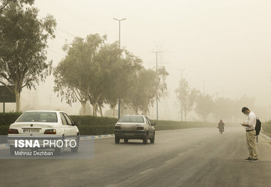
[[[57,122],[56,112],[24,112],[16,122]]]

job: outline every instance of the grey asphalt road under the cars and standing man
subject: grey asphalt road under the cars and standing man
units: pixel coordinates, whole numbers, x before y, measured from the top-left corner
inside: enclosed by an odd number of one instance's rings
[[[156,132],[147,145],[96,139],[93,159],[1,159],[0,186],[271,186],[270,141],[257,148],[260,161],[245,161],[242,127]]]

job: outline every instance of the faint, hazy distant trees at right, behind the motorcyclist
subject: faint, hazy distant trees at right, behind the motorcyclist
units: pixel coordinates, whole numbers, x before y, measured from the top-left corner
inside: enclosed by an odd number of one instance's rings
[[[225,97],[213,97],[212,95],[205,95],[195,88],[190,88],[188,81],[180,80],[178,88],[175,90],[176,96],[183,106],[183,114],[185,120],[190,112],[198,114],[198,116],[206,121],[211,117],[218,121],[225,119],[227,121],[235,122],[240,119],[240,109],[244,106],[250,106],[258,109],[255,106],[255,98],[242,95],[235,100]],[[258,109],[262,111],[262,109]]]

